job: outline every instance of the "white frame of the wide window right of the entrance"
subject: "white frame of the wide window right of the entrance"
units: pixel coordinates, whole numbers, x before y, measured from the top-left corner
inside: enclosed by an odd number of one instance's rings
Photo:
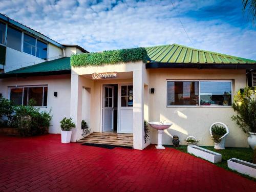
[[[198,81],[198,105],[168,105],[168,92],[167,84],[168,81]],[[201,92],[200,92],[200,82],[230,82],[231,83],[231,102],[233,102],[233,80],[229,79],[166,79],[166,108],[232,108],[231,105],[201,105]]]

